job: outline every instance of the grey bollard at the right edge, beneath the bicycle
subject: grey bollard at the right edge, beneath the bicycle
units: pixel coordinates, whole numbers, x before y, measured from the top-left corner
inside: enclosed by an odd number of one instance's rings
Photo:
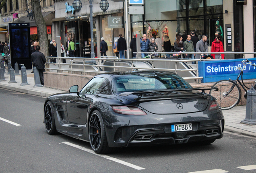
[[[246,118],[241,123],[256,125],[256,90],[252,88],[247,91]]]

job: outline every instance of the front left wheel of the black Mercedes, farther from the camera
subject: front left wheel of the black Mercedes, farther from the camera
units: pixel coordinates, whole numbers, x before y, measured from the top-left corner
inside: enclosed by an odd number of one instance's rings
[[[54,135],[57,133],[56,131],[56,126],[55,126],[55,119],[54,119],[54,110],[52,103],[48,101],[45,105],[44,108],[44,125],[45,125],[45,130],[47,131],[48,134]]]

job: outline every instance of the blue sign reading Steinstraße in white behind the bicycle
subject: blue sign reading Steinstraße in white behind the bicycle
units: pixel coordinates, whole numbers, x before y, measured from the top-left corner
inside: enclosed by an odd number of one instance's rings
[[[240,72],[239,67],[243,68],[243,59],[200,61],[198,62],[199,76],[203,76],[202,83],[217,82],[223,79],[235,80]],[[252,64],[256,64],[256,58],[249,59]],[[256,67],[248,64],[244,69],[243,79],[256,78]]]

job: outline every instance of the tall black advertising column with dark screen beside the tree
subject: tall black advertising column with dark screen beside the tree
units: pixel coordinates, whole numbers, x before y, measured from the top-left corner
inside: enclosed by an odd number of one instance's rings
[[[9,23],[8,27],[12,68],[17,62],[18,64],[24,64],[27,69],[32,69],[29,23]],[[21,66],[19,66],[19,69],[21,69]]]

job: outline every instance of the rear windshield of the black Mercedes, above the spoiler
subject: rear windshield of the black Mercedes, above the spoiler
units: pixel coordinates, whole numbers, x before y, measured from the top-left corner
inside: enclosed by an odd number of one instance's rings
[[[192,88],[186,80],[177,74],[156,75],[126,75],[112,80],[115,93]]]

